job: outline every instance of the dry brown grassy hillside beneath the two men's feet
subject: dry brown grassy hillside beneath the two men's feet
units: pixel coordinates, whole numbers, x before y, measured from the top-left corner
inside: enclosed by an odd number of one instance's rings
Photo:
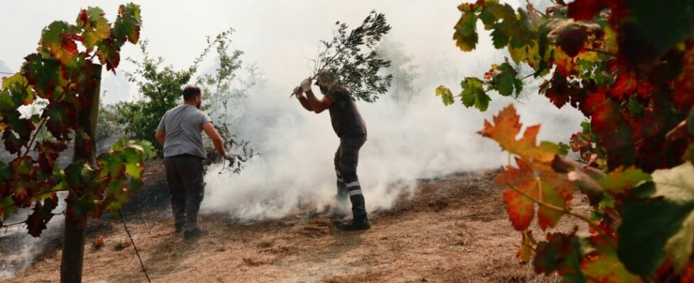
[[[339,231],[319,212],[250,224],[203,215],[210,234],[197,241],[173,231],[161,163],[151,163],[146,174],[145,187],[124,211],[152,282],[558,281],[534,275],[514,257],[520,236],[506,219],[493,171],[420,180],[413,195],[374,212],[373,228],[364,232]],[[582,200],[575,207],[588,209]],[[558,229],[576,224],[563,221]],[[100,237],[104,246],[94,248]],[[0,249],[11,241],[0,238]],[[84,282],[147,282],[133,247],[123,245],[120,221],[92,221],[87,241]],[[4,282],[59,282],[59,270],[57,241]]]

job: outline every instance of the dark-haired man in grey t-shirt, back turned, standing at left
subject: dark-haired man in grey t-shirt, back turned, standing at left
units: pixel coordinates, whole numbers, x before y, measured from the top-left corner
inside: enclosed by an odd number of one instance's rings
[[[183,89],[183,104],[168,110],[157,128],[155,138],[164,148],[166,183],[171,193],[171,208],[177,232],[184,238],[202,236],[197,214],[204,197],[202,161],[206,158],[202,131],[209,136],[219,154],[228,158],[224,141],[212,121],[200,111],[202,91],[197,86]]]

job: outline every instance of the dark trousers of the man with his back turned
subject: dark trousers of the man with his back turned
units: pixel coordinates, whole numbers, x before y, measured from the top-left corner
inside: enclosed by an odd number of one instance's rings
[[[166,183],[176,226],[197,229],[197,213],[205,195],[202,158],[189,154],[164,158]]]

